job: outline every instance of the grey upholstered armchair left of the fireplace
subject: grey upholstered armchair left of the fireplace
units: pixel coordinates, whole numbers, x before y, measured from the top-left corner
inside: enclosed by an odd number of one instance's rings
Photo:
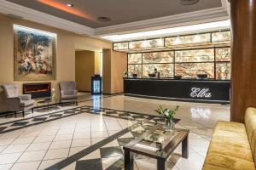
[[[30,94],[19,95],[19,88],[16,84],[6,84],[3,85],[4,92],[4,109],[6,111],[15,112],[15,116],[17,112],[22,111],[22,116],[25,115],[25,111],[32,109],[35,101],[31,99]]]

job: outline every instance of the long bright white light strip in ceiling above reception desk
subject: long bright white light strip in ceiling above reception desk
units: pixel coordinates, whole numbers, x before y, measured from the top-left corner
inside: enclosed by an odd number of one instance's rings
[[[104,39],[108,39],[113,42],[142,39],[149,37],[165,37],[165,36],[174,36],[179,34],[187,34],[194,32],[202,31],[215,31],[219,29],[230,29],[230,20],[222,20],[216,22],[209,22],[205,24],[197,24],[191,26],[179,26],[173,28],[166,28],[153,31],[142,31],[128,34],[119,34],[119,35],[108,35],[102,36]]]

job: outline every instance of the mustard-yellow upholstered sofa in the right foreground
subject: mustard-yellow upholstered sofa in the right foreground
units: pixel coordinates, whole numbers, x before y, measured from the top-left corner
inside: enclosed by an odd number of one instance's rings
[[[203,170],[255,170],[256,109],[248,108],[245,123],[218,122]]]

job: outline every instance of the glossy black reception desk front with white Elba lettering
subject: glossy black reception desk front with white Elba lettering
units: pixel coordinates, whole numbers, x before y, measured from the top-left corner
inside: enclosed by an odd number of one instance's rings
[[[124,78],[124,93],[144,98],[228,104],[230,81]]]

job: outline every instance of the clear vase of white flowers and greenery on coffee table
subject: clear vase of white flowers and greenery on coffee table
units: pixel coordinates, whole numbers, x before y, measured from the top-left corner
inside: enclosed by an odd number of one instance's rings
[[[165,118],[166,125],[165,128],[166,130],[172,130],[174,127],[174,122],[173,122],[173,117],[177,113],[179,106],[177,105],[175,108],[171,109],[164,109],[162,106],[159,106],[155,112],[157,112],[160,116]]]

